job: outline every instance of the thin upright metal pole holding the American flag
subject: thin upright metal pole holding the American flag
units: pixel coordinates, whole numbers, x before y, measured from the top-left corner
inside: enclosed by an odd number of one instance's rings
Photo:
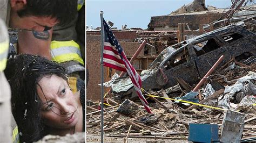
[[[105,40],[105,35],[104,35],[104,26],[103,26],[103,11],[100,11],[100,22],[101,22],[101,26],[102,28],[100,29],[100,33],[102,35],[102,51],[101,51],[101,59],[100,59],[100,67],[102,69],[102,97],[101,97],[101,114],[102,114],[102,121],[101,121],[101,128],[102,128],[102,139],[101,142],[104,142],[104,113],[103,113],[103,105],[104,105],[104,87],[103,87],[103,82],[104,82],[104,70],[103,70],[103,50],[104,50],[104,40]]]

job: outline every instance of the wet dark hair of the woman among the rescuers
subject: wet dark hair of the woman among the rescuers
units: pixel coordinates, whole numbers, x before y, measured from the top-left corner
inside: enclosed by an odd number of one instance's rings
[[[68,82],[65,69],[41,56],[21,54],[7,61],[4,73],[11,87],[12,115],[18,125],[20,141],[41,139],[45,126],[40,115],[42,102],[37,94],[37,83],[53,74]]]

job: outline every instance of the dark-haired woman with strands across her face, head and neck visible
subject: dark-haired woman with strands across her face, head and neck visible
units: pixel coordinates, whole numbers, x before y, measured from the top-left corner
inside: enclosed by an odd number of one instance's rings
[[[85,131],[85,89],[73,94],[58,63],[21,54],[8,60],[4,72],[20,141]]]

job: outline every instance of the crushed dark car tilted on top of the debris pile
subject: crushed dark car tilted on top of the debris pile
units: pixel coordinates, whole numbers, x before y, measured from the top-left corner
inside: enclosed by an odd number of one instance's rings
[[[255,56],[255,37],[256,34],[240,22],[169,46],[157,56],[149,69],[142,71],[142,87],[145,90],[166,89],[177,85],[177,78],[190,85],[197,84],[221,55],[225,57],[219,67],[231,58]],[[129,77],[118,78],[111,87],[118,95],[137,96]]]

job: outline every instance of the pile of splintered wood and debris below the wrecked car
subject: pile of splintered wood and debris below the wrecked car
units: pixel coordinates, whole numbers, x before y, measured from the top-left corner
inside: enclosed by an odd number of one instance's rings
[[[142,105],[129,99],[119,104],[118,95],[106,98],[104,109],[106,136],[187,140],[189,124],[217,124],[221,128],[225,109],[231,109],[245,115],[242,123],[244,124],[242,139],[255,139],[255,71],[255,62],[245,65],[232,59],[215,71],[218,74],[207,77],[206,86],[200,88],[195,94],[196,97],[184,96],[187,91],[191,91],[190,85],[184,81],[165,90],[145,91],[144,96],[150,98],[148,101],[152,114],[146,113]],[[175,97],[176,99],[173,99]],[[199,104],[205,106],[188,105],[180,102],[180,99],[194,103],[197,103],[195,99],[198,99]],[[86,105],[87,133],[100,133],[100,111],[96,109],[99,104],[87,101]]]

